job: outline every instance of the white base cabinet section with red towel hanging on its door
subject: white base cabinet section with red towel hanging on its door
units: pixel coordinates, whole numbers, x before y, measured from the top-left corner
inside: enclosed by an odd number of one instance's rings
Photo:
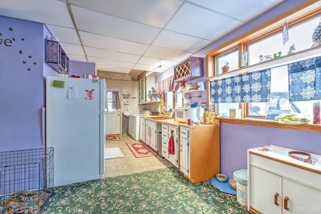
[[[162,156],[169,160],[174,166],[179,167],[179,128],[162,124]],[[173,131],[174,154],[169,154],[169,140]],[[161,152],[161,151],[159,151]]]

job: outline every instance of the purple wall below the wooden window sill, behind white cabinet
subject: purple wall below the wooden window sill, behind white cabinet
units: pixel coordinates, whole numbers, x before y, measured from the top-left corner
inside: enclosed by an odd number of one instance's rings
[[[321,154],[321,133],[221,123],[220,135],[221,173],[229,179],[247,169],[247,149],[275,145]]]

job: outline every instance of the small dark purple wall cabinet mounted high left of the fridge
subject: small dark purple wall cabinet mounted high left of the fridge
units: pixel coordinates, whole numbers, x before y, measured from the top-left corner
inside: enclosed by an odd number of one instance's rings
[[[47,40],[45,45],[45,61],[61,74],[69,74],[69,57],[59,42]]]

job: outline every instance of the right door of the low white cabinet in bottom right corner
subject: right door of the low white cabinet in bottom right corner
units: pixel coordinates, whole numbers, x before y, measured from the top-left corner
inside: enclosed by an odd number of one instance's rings
[[[282,179],[282,210],[283,213],[320,213],[321,191],[297,183],[287,178]],[[285,209],[285,197],[286,201]]]

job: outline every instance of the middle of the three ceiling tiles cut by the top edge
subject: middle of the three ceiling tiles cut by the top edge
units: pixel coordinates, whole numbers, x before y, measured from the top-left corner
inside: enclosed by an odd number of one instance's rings
[[[69,2],[158,28],[163,28],[182,5],[181,0],[69,0]]]

